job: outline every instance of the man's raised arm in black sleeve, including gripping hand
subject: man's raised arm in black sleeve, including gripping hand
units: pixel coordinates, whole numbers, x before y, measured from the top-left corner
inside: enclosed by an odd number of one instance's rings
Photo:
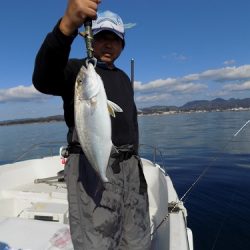
[[[33,84],[45,94],[62,95],[66,89],[71,44],[86,18],[96,18],[100,0],[69,0],[64,16],[43,41],[33,71]]]

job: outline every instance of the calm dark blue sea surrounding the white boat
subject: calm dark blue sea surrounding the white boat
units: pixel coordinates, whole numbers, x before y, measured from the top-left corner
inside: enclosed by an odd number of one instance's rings
[[[140,154],[171,177],[195,250],[250,249],[249,120],[250,111],[139,116]],[[0,164],[58,154],[66,133],[64,122],[1,126]]]

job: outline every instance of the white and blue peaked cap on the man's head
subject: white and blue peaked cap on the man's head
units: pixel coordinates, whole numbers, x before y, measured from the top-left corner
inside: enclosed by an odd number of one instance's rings
[[[111,11],[98,12],[97,19],[92,21],[93,35],[108,30],[124,39],[124,25],[122,19]]]

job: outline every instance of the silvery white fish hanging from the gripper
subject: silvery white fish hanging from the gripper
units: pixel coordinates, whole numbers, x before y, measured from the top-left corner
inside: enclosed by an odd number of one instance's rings
[[[89,62],[80,68],[75,81],[74,119],[81,148],[103,182],[113,147],[111,118],[123,110],[107,99],[101,77]]]

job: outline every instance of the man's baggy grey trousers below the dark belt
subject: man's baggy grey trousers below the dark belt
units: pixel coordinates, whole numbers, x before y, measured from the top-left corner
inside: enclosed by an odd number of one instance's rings
[[[102,184],[83,154],[69,156],[65,178],[75,250],[150,249],[147,185],[140,164],[134,155],[121,161],[111,157],[110,183]]]

